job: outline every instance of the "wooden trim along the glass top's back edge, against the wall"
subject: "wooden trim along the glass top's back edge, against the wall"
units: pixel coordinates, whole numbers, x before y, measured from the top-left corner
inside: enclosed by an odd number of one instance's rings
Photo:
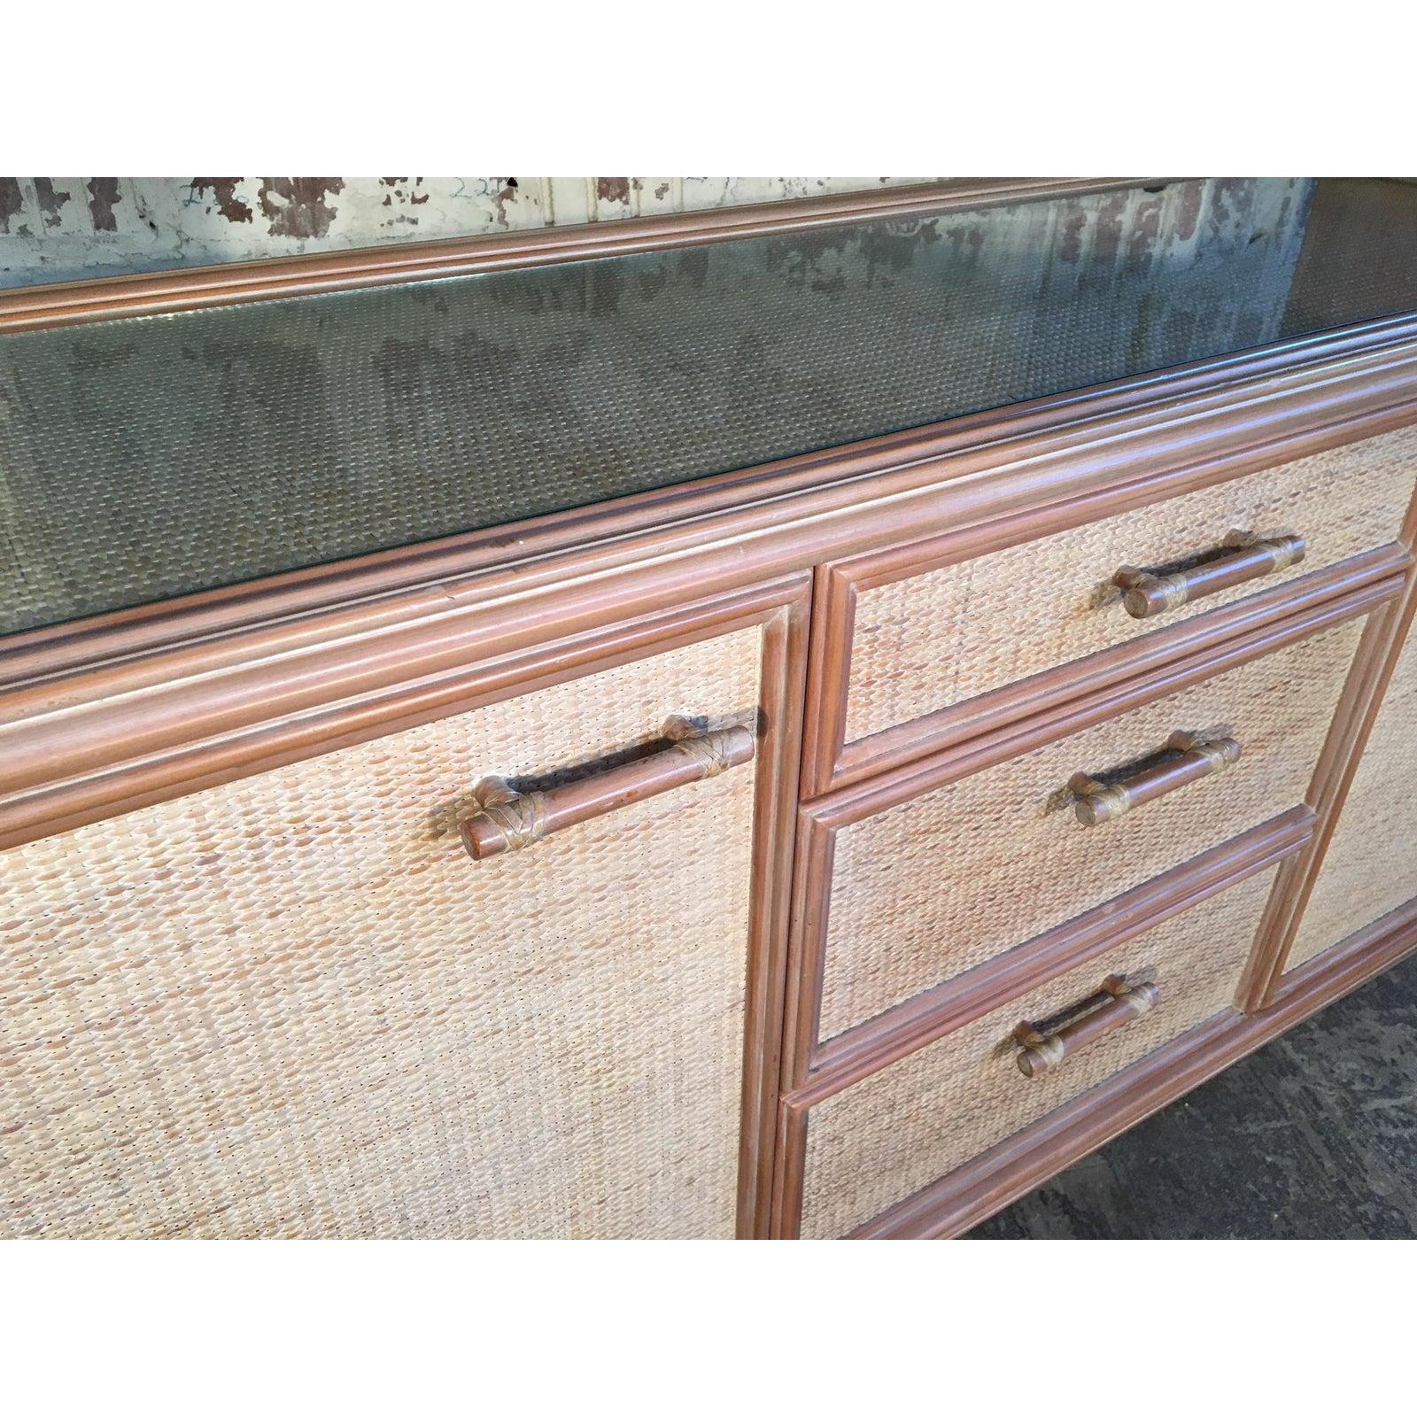
[[[94,320],[171,315],[255,300],[281,300],[336,290],[364,290],[414,281],[487,271],[601,261],[640,251],[741,241],[813,227],[968,211],[1012,203],[1047,201],[1115,191],[1176,177],[961,177],[883,187],[832,197],[799,197],[745,207],[541,227],[483,237],[390,242],[316,255],[276,256],[227,265],[190,266],[156,275],[109,276],[0,292],[0,334],[86,324]]]

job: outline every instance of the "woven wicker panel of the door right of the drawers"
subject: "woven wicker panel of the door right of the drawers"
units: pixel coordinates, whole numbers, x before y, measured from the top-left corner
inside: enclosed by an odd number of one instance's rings
[[[1304,964],[1417,896],[1417,635],[1393,670],[1372,735],[1289,947]]]

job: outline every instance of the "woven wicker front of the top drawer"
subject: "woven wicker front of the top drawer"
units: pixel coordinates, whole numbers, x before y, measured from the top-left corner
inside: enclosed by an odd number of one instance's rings
[[[1051,534],[1037,534],[1037,517],[1013,519],[978,536],[893,553],[884,563],[835,567],[832,574],[850,584],[849,595],[833,597],[849,645],[845,720],[835,733],[836,748],[845,744],[840,767],[859,777],[883,754],[908,755],[910,745],[897,744],[905,733],[898,726],[915,723],[907,737],[928,745],[989,714],[1016,717],[1037,696],[1036,686],[1020,682],[1057,666],[1088,660],[1093,676],[1124,673],[1142,648],[1134,642],[1183,646],[1207,625],[1233,623],[1237,602],[1255,595],[1282,612],[1287,592],[1275,588],[1301,577],[1314,584],[1346,558],[1397,540],[1414,473],[1417,429],[1404,428]],[[1054,524],[1084,516],[1085,503],[1064,506]],[[1223,538],[1236,530],[1302,537],[1304,558],[1274,568],[1282,555],[1227,551]],[[932,564],[941,558],[945,564]],[[1128,614],[1111,580],[1124,565],[1165,574],[1206,558],[1210,571],[1233,567],[1219,589],[1192,577],[1197,595],[1170,609],[1153,597],[1145,618]],[[1187,623],[1197,616],[1209,619]],[[828,701],[835,693],[822,687]]]

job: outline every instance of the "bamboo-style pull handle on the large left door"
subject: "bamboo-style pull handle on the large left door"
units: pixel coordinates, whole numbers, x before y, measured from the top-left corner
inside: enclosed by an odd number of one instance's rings
[[[546,792],[514,792],[502,778],[483,778],[473,788],[480,811],[461,828],[468,854],[480,862],[519,852],[592,816],[716,777],[748,762],[757,750],[752,730],[743,724],[694,733],[686,720],[672,718],[665,737],[676,741],[659,752]]]

